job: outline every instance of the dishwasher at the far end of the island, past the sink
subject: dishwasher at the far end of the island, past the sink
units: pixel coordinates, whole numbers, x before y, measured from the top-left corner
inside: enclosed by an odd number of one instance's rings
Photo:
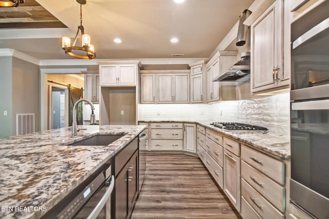
[[[142,131],[138,136],[138,147],[139,147],[139,179],[138,179],[138,194],[143,186],[145,171],[146,171],[146,130]]]

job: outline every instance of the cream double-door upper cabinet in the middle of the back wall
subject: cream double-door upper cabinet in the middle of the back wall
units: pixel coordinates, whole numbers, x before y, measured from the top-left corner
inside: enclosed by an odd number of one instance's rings
[[[189,74],[157,74],[157,103],[189,103]]]

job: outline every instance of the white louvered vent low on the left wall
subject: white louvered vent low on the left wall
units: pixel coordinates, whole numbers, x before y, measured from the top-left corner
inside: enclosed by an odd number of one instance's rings
[[[16,135],[34,132],[34,113],[16,114]]]

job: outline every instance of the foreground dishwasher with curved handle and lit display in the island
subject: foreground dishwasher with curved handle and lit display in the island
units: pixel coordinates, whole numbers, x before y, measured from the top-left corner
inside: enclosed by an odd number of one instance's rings
[[[105,163],[42,218],[111,219],[111,194],[115,184],[111,168],[111,162]]]

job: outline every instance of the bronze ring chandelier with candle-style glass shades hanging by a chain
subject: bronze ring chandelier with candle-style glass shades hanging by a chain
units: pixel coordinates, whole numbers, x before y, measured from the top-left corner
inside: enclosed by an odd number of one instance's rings
[[[62,38],[62,49],[65,53],[71,57],[79,59],[94,59],[96,57],[96,52],[94,46],[90,44],[90,36],[84,33],[84,28],[82,26],[82,5],[86,4],[85,0],[77,0],[80,4],[80,26],[78,26],[78,31],[76,38],[71,46],[71,40],[63,36]],[[81,46],[76,46],[79,32],[81,33]]]

